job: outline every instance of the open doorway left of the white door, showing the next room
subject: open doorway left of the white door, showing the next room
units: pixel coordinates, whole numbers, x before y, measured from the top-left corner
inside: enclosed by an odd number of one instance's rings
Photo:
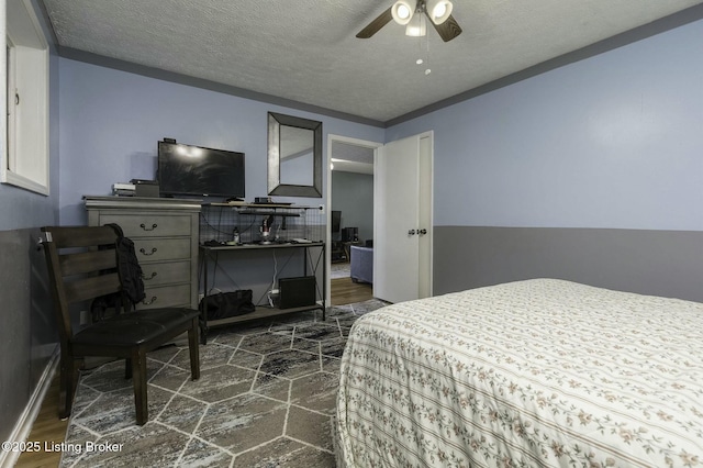
[[[349,257],[352,246],[372,244],[373,160],[381,146],[339,135],[327,137],[327,300],[358,302],[372,297],[371,283],[352,280]]]

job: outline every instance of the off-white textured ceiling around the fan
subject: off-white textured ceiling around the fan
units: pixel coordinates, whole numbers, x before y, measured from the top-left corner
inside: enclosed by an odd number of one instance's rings
[[[44,0],[60,48],[378,122],[703,3],[454,0],[464,33],[449,43],[432,27],[408,37],[392,21],[355,37],[392,2]]]

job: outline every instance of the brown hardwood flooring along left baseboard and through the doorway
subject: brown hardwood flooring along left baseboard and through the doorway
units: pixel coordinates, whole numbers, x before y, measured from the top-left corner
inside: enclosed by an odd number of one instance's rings
[[[362,302],[372,299],[373,288],[371,285],[357,283],[350,278],[336,278],[332,280],[332,304],[344,305],[354,302]],[[54,376],[52,387],[46,393],[36,421],[32,426],[32,432],[27,442],[40,442],[42,446],[47,442],[60,444],[64,442],[68,421],[58,419],[58,371]],[[37,453],[25,452],[20,455],[15,465],[19,468],[57,467],[60,460],[60,452]]]

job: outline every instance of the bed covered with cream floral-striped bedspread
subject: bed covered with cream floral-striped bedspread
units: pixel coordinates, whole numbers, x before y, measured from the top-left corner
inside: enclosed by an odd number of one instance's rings
[[[352,327],[342,467],[703,466],[703,304],[535,279]]]

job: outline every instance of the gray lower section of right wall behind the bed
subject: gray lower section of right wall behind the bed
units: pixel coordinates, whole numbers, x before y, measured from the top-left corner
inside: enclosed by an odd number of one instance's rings
[[[529,278],[703,302],[703,232],[436,226],[434,293]]]

